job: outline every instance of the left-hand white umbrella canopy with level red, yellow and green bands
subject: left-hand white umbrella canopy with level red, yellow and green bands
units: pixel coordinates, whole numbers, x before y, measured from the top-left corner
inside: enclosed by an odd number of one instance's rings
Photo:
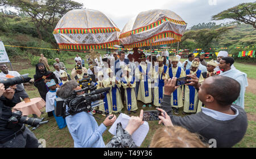
[[[119,45],[119,29],[100,11],[77,9],[67,12],[57,23],[53,35],[60,49],[104,49]]]

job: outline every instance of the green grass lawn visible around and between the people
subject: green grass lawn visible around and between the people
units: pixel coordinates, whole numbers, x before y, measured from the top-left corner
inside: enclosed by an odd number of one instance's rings
[[[75,63],[72,63],[72,61],[73,61],[73,57],[68,58],[68,60],[65,62],[65,66],[68,68],[69,73],[71,72],[73,66],[75,65]],[[184,61],[184,59],[181,59],[181,61]],[[238,68],[238,70],[245,72],[249,78],[256,79],[256,75],[255,75],[256,65],[246,65],[245,63],[235,63],[235,67]],[[53,71],[53,67],[51,67],[51,69]],[[30,77],[32,77],[35,74],[35,67],[28,66],[26,69],[21,70],[19,72],[20,74],[29,73]],[[40,97],[38,90],[33,85],[26,84],[25,89],[28,95],[30,96],[30,98]],[[236,144],[234,147],[256,147],[255,101],[256,101],[256,94],[245,93],[245,110],[249,117],[248,128],[242,141],[240,141],[240,143]],[[138,111],[136,114],[132,113],[131,115],[139,115],[139,110],[141,109],[142,109],[142,102],[138,101]],[[150,110],[150,109],[147,107],[145,110]],[[42,109],[42,111],[45,111],[45,110]],[[122,111],[123,113],[127,114],[126,108],[124,108]],[[43,113],[41,115],[41,118],[42,117],[46,118],[45,120],[49,120],[49,122],[47,124],[43,124],[38,129],[33,131],[38,139],[46,139],[47,147],[58,147],[58,148],[73,147],[73,139],[69,134],[67,127],[63,128],[62,130],[59,130],[54,117],[48,118],[47,113]],[[105,119],[105,117],[103,117],[100,114],[96,114],[95,117],[99,118],[99,119],[96,119],[98,124],[101,124]],[[141,147],[148,147],[152,139],[152,136],[154,135],[155,130],[159,127],[162,127],[162,124],[158,125],[158,121],[149,121],[148,124],[150,126],[150,131],[148,132],[146,139],[144,139]],[[110,134],[108,130],[106,130],[102,136],[106,144],[110,139],[112,139],[113,135]]]

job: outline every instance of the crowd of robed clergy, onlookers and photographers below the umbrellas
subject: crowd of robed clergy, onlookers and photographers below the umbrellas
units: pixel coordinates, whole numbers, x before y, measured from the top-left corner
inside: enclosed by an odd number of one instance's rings
[[[166,126],[156,130],[150,147],[208,147],[205,143],[210,139],[217,140],[217,147],[232,147],[245,135],[247,117],[243,109],[247,77],[234,68],[234,59],[228,57],[226,51],[218,53],[217,61],[209,62],[205,62],[204,54],[195,57],[191,53],[183,63],[179,55],[169,56],[168,51],[148,57],[141,51],[138,61],[124,51],[85,60],[76,55],[70,75],[59,58],[55,61],[55,71],[51,72],[47,59],[41,54],[34,85],[46,101],[48,117],[54,115],[59,128],[68,126],[75,147],[136,147],[131,135],[143,123],[143,109],[147,106],[162,112],[159,123]],[[88,68],[84,67],[85,61]],[[0,79],[18,75],[8,71],[5,64],[1,64],[0,69]],[[55,98],[69,97],[73,90],[81,89],[78,81],[88,76],[97,89],[110,87],[105,92],[104,104],[94,109],[113,118],[106,117],[98,126],[93,112],[56,117]],[[177,79],[184,77],[188,77],[189,83],[177,86]],[[22,84],[17,85],[16,93],[18,98],[28,97]],[[138,101],[143,103],[141,108]],[[124,108],[128,114],[142,109],[141,115],[131,117],[126,128],[119,123],[117,135],[105,145],[103,132],[114,123],[114,114],[122,113]],[[188,115],[178,117],[180,109],[183,115]]]

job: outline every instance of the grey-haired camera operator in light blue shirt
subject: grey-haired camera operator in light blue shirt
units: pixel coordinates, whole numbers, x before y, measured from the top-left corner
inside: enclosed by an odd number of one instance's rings
[[[72,96],[73,91],[81,89],[77,85],[77,82],[72,80],[63,84],[57,91],[57,96],[63,99],[67,99]],[[81,95],[82,92],[77,93]],[[106,130],[106,127],[111,126],[117,117],[110,115],[106,117],[105,121],[98,126],[91,112],[81,111],[75,115],[69,115],[66,117],[68,130],[73,137],[74,147],[90,147],[90,148],[104,148],[105,144],[102,139],[102,134]]]

